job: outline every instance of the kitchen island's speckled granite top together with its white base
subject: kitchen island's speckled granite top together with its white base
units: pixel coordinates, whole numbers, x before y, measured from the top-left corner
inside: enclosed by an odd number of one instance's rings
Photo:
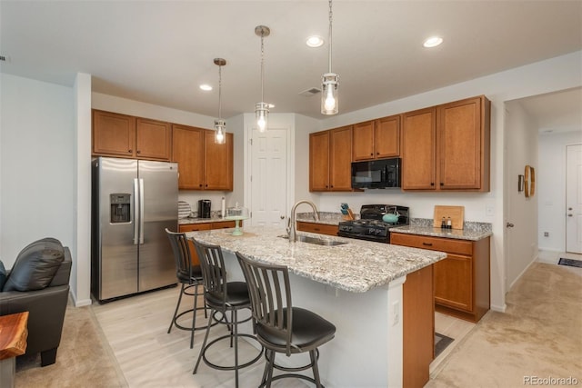
[[[320,351],[322,382],[329,387],[398,387],[403,381],[403,284],[406,274],[447,256],[440,252],[306,234],[345,244],[290,243],[284,230],[248,227],[187,233],[225,254],[229,280],[244,279],[236,252],[289,268],[293,303],[336,325],[336,338]],[[427,295],[431,298],[432,295]],[[430,301],[432,303],[432,300]],[[432,330],[432,321],[426,322]],[[250,328],[246,328],[250,332]],[[300,358],[300,357],[297,357]],[[298,364],[295,357],[279,363]]]

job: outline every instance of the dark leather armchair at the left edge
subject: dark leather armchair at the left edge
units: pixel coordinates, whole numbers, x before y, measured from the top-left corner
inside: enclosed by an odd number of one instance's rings
[[[5,273],[0,262],[0,315],[29,312],[25,354],[40,353],[41,365],[55,363],[61,342],[71,274],[71,253],[54,238],[29,244]]]

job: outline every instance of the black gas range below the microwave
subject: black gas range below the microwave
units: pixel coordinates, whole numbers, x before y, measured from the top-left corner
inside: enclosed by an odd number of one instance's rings
[[[409,208],[396,204],[364,204],[360,209],[360,219],[339,223],[337,235],[360,240],[390,243],[390,228],[408,224]],[[395,220],[383,221],[384,215]]]

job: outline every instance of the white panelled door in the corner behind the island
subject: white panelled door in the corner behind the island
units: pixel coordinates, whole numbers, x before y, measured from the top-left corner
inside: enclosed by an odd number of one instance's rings
[[[271,129],[251,137],[251,224],[285,226],[287,203],[287,130]]]

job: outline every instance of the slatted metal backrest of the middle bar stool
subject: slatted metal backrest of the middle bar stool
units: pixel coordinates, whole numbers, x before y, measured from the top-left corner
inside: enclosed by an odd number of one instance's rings
[[[226,307],[227,283],[225,259],[220,245],[204,244],[195,239],[194,246],[200,260],[206,290],[206,303]]]

